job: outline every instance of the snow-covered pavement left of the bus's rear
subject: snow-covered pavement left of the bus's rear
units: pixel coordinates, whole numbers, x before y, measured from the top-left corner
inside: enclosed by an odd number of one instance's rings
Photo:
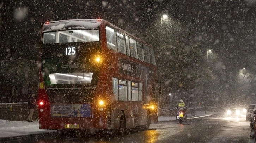
[[[32,123],[26,121],[8,121],[0,119],[0,138],[55,132],[55,130],[41,130],[38,126],[38,121]]]

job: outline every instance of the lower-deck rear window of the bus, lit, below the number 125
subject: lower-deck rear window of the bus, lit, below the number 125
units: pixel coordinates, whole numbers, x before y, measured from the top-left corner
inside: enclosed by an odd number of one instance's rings
[[[93,73],[49,74],[51,84],[91,84]]]

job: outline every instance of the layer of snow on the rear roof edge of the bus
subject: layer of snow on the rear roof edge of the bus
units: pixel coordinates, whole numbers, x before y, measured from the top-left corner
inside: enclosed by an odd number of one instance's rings
[[[65,29],[93,29],[100,25],[97,19],[71,19],[51,21],[44,23],[43,32],[58,31]]]

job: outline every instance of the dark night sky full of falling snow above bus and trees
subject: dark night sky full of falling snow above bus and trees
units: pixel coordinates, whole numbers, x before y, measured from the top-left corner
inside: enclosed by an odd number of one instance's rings
[[[255,78],[255,0],[7,0],[0,2],[0,10],[1,60],[19,57],[38,60],[40,31],[47,20],[102,18],[147,41],[161,39],[156,33],[161,16],[167,14],[168,20],[163,21],[166,33],[175,27],[170,26],[171,21],[181,24],[191,30],[190,41],[200,45],[204,61],[207,50],[212,50],[209,58],[214,57],[218,62],[211,64],[228,75],[223,77],[222,86],[233,82],[232,77],[235,79],[243,68]],[[147,42],[158,50],[161,44],[170,42],[168,37],[176,36],[166,35],[161,43]],[[249,94],[255,95],[255,90]]]

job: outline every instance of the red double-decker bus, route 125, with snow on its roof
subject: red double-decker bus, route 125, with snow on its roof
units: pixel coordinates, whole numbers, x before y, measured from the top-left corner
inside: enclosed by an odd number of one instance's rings
[[[46,22],[39,128],[117,130],[157,122],[151,45],[102,19]]]

